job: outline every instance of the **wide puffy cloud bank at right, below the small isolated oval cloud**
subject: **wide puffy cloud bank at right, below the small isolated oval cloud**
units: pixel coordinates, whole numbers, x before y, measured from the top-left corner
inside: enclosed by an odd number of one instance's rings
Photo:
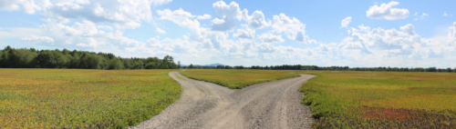
[[[413,25],[408,24],[399,28],[400,31],[381,27],[370,29],[368,26],[359,25],[358,29],[348,30],[349,36],[337,48],[347,54],[353,54],[350,50],[356,50],[358,53],[372,54],[383,59],[414,60],[440,57],[440,49],[444,44],[417,35]]]

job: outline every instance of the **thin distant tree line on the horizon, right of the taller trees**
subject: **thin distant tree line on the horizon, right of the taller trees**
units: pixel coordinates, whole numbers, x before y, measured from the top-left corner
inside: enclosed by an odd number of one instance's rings
[[[325,70],[325,71],[391,71],[391,72],[455,72],[456,68],[436,68],[436,67],[348,67],[348,66],[316,66],[316,65],[252,65],[250,67],[243,65],[217,65],[217,66],[202,66],[189,65],[182,66],[189,69],[264,69],[264,70]]]

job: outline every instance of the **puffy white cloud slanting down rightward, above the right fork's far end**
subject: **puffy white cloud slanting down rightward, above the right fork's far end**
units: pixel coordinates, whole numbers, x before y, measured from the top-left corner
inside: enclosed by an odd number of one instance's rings
[[[295,17],[290,18],[285,14],[274,15],[273,32],[285,33],[289,39],[293,39],[302,44],[316,43],[306,35],[306,25]]]

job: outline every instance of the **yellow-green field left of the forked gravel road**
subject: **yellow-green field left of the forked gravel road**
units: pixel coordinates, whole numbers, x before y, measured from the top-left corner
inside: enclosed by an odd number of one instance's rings
[[[1,128],[124,128],[176,101],[171,70],[0,69]]]

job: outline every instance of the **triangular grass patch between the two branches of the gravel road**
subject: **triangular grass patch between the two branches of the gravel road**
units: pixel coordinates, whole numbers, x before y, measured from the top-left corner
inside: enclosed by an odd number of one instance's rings
[[[279,70],[187,69],[179,73],[195,80],[233,89],[299,76],[299,74],[290,74],[290,71]]]

